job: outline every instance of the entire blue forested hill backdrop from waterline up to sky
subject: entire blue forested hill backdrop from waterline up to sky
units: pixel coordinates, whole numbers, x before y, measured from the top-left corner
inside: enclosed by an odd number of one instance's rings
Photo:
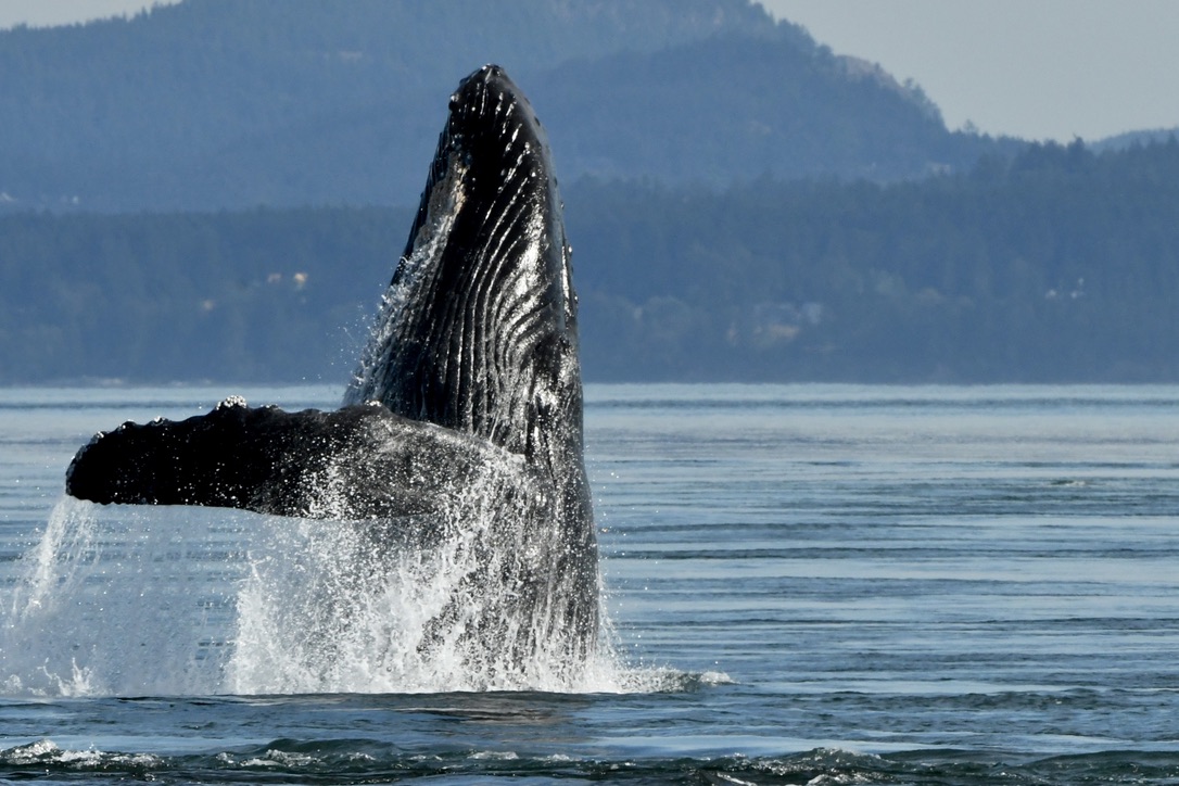
[[[184,0],[0,32],[0,384],[342,384],[486,61],[590,379],[1179,381],[1165,133],[950,132],[750,0]]]

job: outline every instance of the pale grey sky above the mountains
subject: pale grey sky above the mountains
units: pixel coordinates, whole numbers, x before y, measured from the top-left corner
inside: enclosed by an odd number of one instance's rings
[[[914,79],[950,128],[969,120],[993,134],[1071,141],[1179,126],[1179,0],[760,2],[837,53]],[[0,28],[151,5],[0,0]]]

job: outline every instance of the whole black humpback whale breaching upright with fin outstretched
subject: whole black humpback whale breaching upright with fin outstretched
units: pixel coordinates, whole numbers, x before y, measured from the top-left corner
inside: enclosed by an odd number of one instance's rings
[[[67,493],[371,521],[394,541],[428,541],[477,506],[492,522],[474,547],[486,568],[463,581],[505,582],[512,608],[485,609],[461,635],[512,658],[536,639],[584,658],[598,632],[598,550],[561,207],[528,100],[498,66],[476,71],[450,97],[342,408],[231,397],[183,422],[125,423],[78,451]]]

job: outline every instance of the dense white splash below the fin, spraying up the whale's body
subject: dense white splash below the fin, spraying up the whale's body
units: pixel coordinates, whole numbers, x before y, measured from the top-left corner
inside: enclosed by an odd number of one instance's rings
[[[265,519],[237,599],[229,689],[601,689],[593,678],[617,659],[587,658],[585,636],[569,635],[571,588],[538,589],[565,547],[548,502],[518,457],[500,470],[429,516]]]

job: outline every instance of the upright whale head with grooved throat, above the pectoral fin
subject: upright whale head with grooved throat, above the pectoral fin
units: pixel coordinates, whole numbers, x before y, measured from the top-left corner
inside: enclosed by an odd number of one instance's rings
[[[545,131],[498,66],[450,97],[378,319],[348,403],[378,401],[540,463],[558,448],[554,436],[580,455],[577,296],[561,199]]]

